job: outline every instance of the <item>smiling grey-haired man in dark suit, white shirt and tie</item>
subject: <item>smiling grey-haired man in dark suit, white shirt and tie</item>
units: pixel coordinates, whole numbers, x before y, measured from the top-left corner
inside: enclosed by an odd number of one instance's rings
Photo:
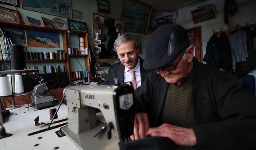
[[[132,81],[134,90],[145,80],[149,71],[143,68],[143,59],[138,56],[138,41],[132,34],[123,34],[114,42],[120,62],[110,66],[105,85],[114,84],[114,78],[119,78],[120,83]],[[135,75],[132,75],[133,72]],[[136,81],[134,81],[134,77]],[[136,85],[134,84],[136,83]]]

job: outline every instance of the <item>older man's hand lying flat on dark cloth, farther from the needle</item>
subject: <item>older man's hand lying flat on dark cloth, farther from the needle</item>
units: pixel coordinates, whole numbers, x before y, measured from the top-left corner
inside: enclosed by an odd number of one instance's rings
[[[150,128],[147,132],[151,136],[162,136],[170,138],[180,146],[195,146],[196,136],[192,128],[182,128],[170,124],[162,124],[157,128]]]

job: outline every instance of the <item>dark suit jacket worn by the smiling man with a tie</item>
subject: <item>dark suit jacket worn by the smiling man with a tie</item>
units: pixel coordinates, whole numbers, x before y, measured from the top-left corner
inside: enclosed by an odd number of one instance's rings
[[[150,71],[145,70],[143,68],[143,59],[140,58],[140,56],[138,58],[140,59],[140,80],[142,84]],[[119,82],[121,84],[124,83],[124,65],[121,62],[118,62],[110,66],[108,70],[108,76],[105,81],[105,85],[113,85],[114,78],[119,78]]]

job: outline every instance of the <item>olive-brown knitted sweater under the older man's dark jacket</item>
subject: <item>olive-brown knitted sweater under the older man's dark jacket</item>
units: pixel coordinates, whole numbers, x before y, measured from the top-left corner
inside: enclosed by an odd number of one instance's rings
[[[193,124],[194,110],[191,100],[192,78],[180,87],[169,84],[162,108],[162,123],[189,128]]]

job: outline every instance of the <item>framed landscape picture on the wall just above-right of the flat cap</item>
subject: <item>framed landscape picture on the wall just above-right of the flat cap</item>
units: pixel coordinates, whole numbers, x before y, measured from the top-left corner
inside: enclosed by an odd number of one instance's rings
[[[155,30],[164,24],[177,24],[177,10],[152,12],[148,30]]]

